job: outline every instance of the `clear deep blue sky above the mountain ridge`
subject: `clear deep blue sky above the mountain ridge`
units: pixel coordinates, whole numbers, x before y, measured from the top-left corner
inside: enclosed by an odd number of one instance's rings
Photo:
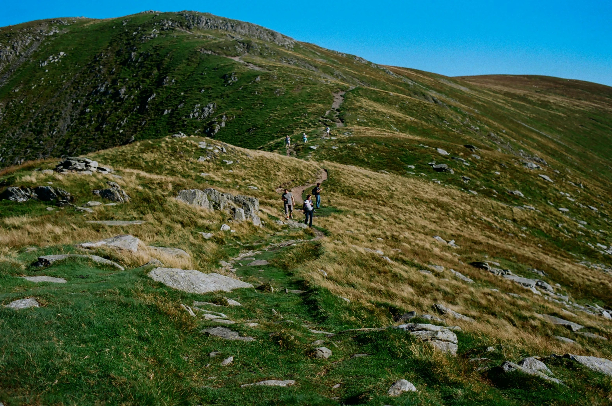
[[[379,64],[550,75],[612,86],[612,1],[4,0],[0,26],[142,10],[210,12]]]

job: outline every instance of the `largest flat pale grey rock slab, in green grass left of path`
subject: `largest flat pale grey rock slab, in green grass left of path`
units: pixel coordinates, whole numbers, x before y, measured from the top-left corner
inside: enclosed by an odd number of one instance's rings
[[[194,269],[155,268],[149,272],[151,279],[187,293],[209,293],[218,290],[230,292],[253,285],[217,273],[205,274]]]

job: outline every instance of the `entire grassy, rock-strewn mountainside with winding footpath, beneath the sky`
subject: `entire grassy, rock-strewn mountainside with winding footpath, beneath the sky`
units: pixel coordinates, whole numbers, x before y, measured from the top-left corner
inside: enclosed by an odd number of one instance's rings
[[[610,404],[610,129],[209,13],[0,28],[0,404]]]

